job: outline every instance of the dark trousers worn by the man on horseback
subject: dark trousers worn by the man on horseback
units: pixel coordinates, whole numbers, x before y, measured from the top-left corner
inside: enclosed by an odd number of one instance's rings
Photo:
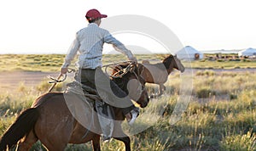
[[[111,81],[101,68],[79,69],[75,79],[86,86],[95,88],[105,103],[122,109],[124,115],[136,109],[131,98],[115,82]]]

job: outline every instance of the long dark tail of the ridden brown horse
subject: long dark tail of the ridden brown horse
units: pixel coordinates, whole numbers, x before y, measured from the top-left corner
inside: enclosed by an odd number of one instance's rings
[[[0,140],[0,151],[12,148],[22,137],[25,137],[35,126],[39,117],[37,108],[30,108],[23,111],[15,123],[3,134]]]

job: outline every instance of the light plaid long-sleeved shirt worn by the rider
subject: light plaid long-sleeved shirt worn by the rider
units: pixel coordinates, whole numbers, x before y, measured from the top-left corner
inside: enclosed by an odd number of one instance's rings
[[[124,53],[128,59],[133,58],[131,51],[125,48],[124,44],[116,40],[109,31],[100,28],[95,23],[90,23],[87,27],[77,32],[62,68],[67,68],[78,52],[80,53],[79,68],[96,69],[96,67],[102,67],[102,48],[104,42],[113,44],[113,48],[120,53]]]

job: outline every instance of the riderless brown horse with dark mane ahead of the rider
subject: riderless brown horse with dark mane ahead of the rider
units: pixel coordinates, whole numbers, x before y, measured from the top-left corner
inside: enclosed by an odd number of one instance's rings
[[[176,69],[181,72],[185,70],[181,61],[177,59],[177,56],[172,54],[163,59],[162,63],[149,64],[148,62],[144,62],[143,66],[145,68],[141,76],[144,81],[160,85],[160,92],[157,96],[160,96],[166,90],[164,83],[167,81],[172,70]]]

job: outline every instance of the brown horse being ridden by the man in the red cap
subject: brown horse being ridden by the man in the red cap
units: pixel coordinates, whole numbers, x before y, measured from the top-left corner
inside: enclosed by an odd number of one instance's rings
[[[118,82],[119,87],[127,92],[128,81],[139,81],[137,77],[140,74],[130,70],[119,78],[113,78],[113,81]],[[143,81],[140,83],[144,87],[145,83]],[[141,104],[141,107],[146,107],[149,98],[143,87],[137,103]],[[63,151],[67,143],[79,144],[89,141],[92,141],[95,151],[101,150],[101,129],[97,114],[90,107],[90,103],[89,105],[84,103],[80,97],[78,94],[65,92],[48,92],[40,96],[34,101],[32,107],[22,112],[15,123],[3,134],[0,150],[13,148],[18,143],[17,150],[27,151],[38,140],[50,151]],[[131,140],[122,131],[120,125],[125,120],[125,116],[119,108],[113,108],[113,111],[116,116],[114,120],[118,120],[114,124],[113,138],[125,143],[125,150],[129,151]]]

